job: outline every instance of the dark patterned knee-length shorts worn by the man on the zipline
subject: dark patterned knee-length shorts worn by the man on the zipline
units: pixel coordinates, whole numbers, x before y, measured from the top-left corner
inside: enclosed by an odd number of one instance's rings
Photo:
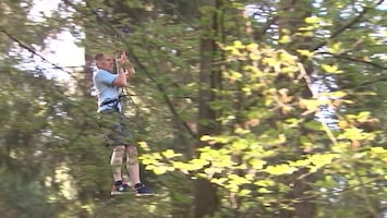
[[[111,146],[133,144],[133,135],[126,118],[117,110],[100,112],[100,126]]]

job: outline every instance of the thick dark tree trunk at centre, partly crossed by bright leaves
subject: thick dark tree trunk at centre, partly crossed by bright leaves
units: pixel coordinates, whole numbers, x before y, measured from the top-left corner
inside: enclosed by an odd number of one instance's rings
[[[219,7],[217,0],[204,0],[202,5],[210,7],[214,10],[202,14],[201,38],[201,88],[198,93],[198,136],[204,134],[218,133],[217,114],[209,107],[209,102],[216,99],[214,88],[220,87],[219,71],[214,68],[214,59],[217,56],[217,16],[216,10]],[[203,122],[204,121],[204,122]],[[194,183],[194,218],[211,216],[219,206],[216,187],[205,179],[198,179]]]

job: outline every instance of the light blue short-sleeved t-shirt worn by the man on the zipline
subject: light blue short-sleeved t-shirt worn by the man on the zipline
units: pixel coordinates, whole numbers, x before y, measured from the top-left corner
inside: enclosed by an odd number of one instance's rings
[[[98,96],[98,112],[114,108],[114,102],[105,105],[102,107],[101,104],[119,98],[120,90],[117,86],[113,85],[113,81],[117,76],[117,74],[112,74],[101,69],[94,72],[93,83]],[[121,110],[121,104],[119,104],[118,107],[119,110]]]

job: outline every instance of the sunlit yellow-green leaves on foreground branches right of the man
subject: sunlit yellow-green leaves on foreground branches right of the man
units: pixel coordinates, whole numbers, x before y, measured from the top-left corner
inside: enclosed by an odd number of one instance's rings
[[[230,53],[230,66],[227,69],[232,69],[235,62],[250,63],[242,64],[239,72],[223,72],[228,89],[222,90],[222,95],[234,101],[213,102],[217,110],[227,111],[220,120],[229,129],[222,135],[203,136],[201,140],[207,146],[199,148],[197,157],[189,161],[181,161],[179,157],[182,155],[170,149],[145,154],[142,158],[147,169],[156,174],[178,170],[191,177],[204,177],[233,193],[232,196],[238,201],[231,202],[237,205],[229,206],[240,208],[242,214],[251,214],[253,210],[259,216],[266,214],[266,210],[275,213],[299,201],[286,198],[293,185],[286,178],[294,172],[302,172],[299,179],[318,172],[314,191],[309,193],[316,202],[334,197],[329,192],[336,192],[329,190],[338,189],[340,181],[348,183],[343,189],[356,190],[359,186],[367,186],[359,184],[364,182],[362,177],[372,181],[383,179],[386,156],[371,155],[375,149],[385,154],[384,148],[372,146],[376,132],[364,132],[355,126],[375,122],[370,112],[347,114],[342,120],[350,119],[351,124],[339,121],[339,126],[335,125],[334,130],[328,128],[326,121],[317,122],[310,118],[321,112],[322,107],[339,107],[338,99],[342,105],[352,102],[346,99],[346,93],[319,93],[319,96],[311,99],[301,98],[297,93],[290,95],[288,88],[276,87],[275,81],[281,74],[290,77],[292,85],[288,87],[310,81],[297,57],[283,50],[256,44],[242,45],[240,41],[225,46],[223,49]],[[323,96],[332,99],[321,98]],[[242,105],[242,109],[234,110],[234,104]],[[279,117],[286,119],[279,121]],[[303,129],[310,130],[307,135],[303,134]],[[299,155],[300,149],[302,155]],[[364,161],[363,157],[367,157],[367,160]],[[358,175],[367,168],[379,170],[372,177]],[[321,194],[324,197],[321,198]]]

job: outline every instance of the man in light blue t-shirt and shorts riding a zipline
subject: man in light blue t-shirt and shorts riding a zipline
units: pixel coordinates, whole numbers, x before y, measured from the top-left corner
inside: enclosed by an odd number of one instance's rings
[[[125,123],[122,112],[120,88],[126,86],[134,74],[134,69],[128,65],[125,52],[113,58],[106,53],[95,56],[97,71],[94,72],[93,82],[98,95],[98,112],[101,117],[101,126],[112,146],[111,166],[114,185],[111,194],[124,194],[131,191],[126,181],[122,179],[122,164],[126,159],[126,171],[131,178],[132,189],[138,195],[150,195],[147,187],[141,183],[137,149],[133,145],[133,135]],[[114,72],[114,61],[117,73]]]

